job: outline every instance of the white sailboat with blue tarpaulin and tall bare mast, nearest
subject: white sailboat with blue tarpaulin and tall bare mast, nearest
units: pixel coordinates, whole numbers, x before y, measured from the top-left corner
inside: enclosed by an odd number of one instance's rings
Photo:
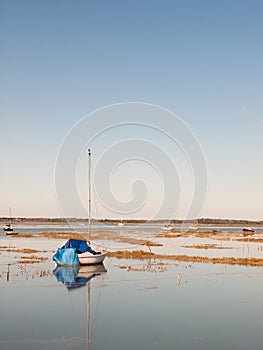
[[[65,245],[58,248],[53,260],[57,265],[96,265],[102,264],[107,256],[106,250],[95,251],[90,247],[91,224],[91,153],[88,149],[88,240],[69,239]]]

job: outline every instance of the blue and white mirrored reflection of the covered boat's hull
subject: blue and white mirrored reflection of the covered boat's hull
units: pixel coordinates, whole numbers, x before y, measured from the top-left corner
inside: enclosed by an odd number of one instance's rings
[[[53,275],[62,282],[68,290],[85,287],[92,278],[107,272],[103,264],[84,266],[58,266]]]

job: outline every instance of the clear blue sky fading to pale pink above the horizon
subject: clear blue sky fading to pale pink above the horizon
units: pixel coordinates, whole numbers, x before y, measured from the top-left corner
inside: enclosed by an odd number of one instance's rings
[[[262,13],[257,0],[0,0],[0,217],[86,217],[90,147],[93,217],[185,218],[201,188],[194,216],[263,220]]]

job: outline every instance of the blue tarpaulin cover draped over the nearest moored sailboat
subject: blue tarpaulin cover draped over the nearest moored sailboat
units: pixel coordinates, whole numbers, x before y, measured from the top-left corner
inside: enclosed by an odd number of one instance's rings
[[[58,248],[53,260],[58,265],[80,265],[78,254],[90,252],[96,254],[87,244],[87,241],[81,239],[69,239],[65,245]]]

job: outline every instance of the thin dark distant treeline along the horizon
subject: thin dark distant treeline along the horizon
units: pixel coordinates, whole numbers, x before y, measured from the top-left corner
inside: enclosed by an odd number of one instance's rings
[[[9,221],[9,217],[2,217],[0,221]],[[109,224],[117,224],[122,221],[124,224],[145,224],[145,223],[153,223],[153,224],[165,224],[170,223],[173,225],[181,225],[181,224],[191,224],[191,225],[263,225],[263,220],[261,221],[253,221],[253,220],[240,220],[240,219],[210,219],[210,218],[201,218],[201,219],[193,219],[193,220],[135,220],[135,219],[92,219],[92,223],[109,223]],[[57,223],[57,224],[67,224],[69,222],[72,223],[88,223],[88,219],[83,218],[12,218],[12,222],[34,222],[34,223]]]

